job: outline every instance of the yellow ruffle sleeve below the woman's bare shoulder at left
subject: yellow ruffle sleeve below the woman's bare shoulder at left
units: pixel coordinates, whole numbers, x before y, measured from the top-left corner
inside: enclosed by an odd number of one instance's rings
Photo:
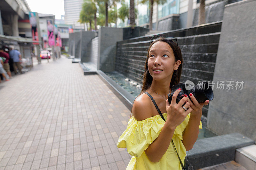
[[[164,126],[160,115],[137,121],[132,117],[126,130],[117,142],[118,148],[126,148],[127,152],[139,158],[148,146],[158,137]]]

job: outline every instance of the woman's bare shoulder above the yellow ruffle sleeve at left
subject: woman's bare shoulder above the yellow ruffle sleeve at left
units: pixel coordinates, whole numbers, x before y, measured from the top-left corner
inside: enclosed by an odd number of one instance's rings
[[[141,121],[152,117],[153,109],[150,97],[147,94],[142,93],[134,100],[132,114],[137,121]]]

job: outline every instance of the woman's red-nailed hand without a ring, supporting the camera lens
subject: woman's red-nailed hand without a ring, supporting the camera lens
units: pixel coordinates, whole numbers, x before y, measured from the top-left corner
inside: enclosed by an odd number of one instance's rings
[[[190,107],[192,108],[190,115],[201,117],[202,109],[204,106],[207,106],[209,104],[209,100],[206,100],[205,102],[202,102],[202,103],[198,103],[195,96],[192,93],[190,93],[189,96],[192,100],[191,102],[191,100],[187,96],[187,101],[190,104]]]

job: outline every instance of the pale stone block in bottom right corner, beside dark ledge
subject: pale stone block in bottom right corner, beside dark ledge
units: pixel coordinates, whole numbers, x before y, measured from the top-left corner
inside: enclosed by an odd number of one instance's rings
[[[247,170],[256,170],[256,145],[236,149],[235,160]]]

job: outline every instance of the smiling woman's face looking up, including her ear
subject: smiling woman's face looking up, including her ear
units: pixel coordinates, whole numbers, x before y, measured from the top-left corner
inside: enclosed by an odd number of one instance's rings
[[[175,62],[173,50],[169,44],[157,41],[149,50],[148,71],[154,80],[170,79],[181,61]]]

